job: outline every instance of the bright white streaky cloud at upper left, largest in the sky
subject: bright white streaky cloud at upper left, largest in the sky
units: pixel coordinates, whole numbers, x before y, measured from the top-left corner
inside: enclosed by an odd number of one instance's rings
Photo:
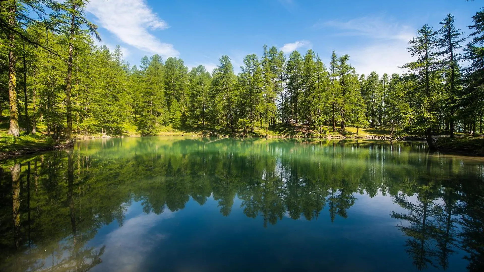
[[[168,28],[144,0],[91,0],[86,10],[97,17],[99,24],[122,42],[138,49],[178,57],[173,45],[160,42],[149,30]]]

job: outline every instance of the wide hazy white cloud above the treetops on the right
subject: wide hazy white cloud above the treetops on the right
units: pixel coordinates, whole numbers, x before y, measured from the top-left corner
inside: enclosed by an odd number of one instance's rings
[[[361,17],[342,21],[319,21],[316,29],[333,28],[344,30],[336,35],[361,36],[363,42],[348,44],[346,51],[350,61],[359,74],[368,75],[376,71],[380,76],[384,73],[402,74],[405,71],[398,68],[411,60],[408,53],[408,41],[414,36],[414,28],[396,23],[391,18],[382,16]]]

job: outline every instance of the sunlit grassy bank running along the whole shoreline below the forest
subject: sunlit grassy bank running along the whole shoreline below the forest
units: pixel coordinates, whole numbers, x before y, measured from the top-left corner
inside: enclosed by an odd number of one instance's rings
[[[386,126],[377,126],[373,128],[360,128],[358,135],[357,128],[348,126],[346,129],[337,129],[332,131],[332,127],[319,128],[298,124],[277,124],[269,127],[267,132],[265,128],[255,128],[254,131],[247,129],[237,129],[234,132],[226,127],[216,127],[207,125],[203,128],[176,129],[171,126],[159,127],[158,136],[216,136],[213,133],[229,137],[281,137],[281,138],[367,138],[367,139],[394,139],[390,136],[391,128]],[[484,137],[483,136],[464,136],[457,133],[456,138],[442,137],[435,140],[439,150],[463,152],[474,155],[484,155]],[[118,136],[140,136],[136,128],[127,127],[122,135]],[[75,134],[76,139],[101,138],[103,134]],[[109,136],[108,136],[109,137]],[[411,138],[410,138],[411,140]],[[55,141],[50,136],[42,133],[25,134],[21,132],[20,137],[13,137],[7,134],[5,128],[0,129],[0,159],[12,157],[15,155],[32,153],[35,151],[50,150],[61,145],[62,141]]]

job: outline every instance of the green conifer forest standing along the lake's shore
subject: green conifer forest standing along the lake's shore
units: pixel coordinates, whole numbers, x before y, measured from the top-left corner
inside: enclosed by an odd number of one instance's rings
[[[473,16],[469,36],[452,14],[418,29],[403,75],[359,75],[348,55],[333,51],[323,63],[311,49],[285,55],[267,45],[235,75],[227,55],[213,71],[159,55],[132,66],[119,45],[112,52],[96,45],[86,3],[0,1],[0,114],[8,134],[72,142],[75,134],[152,136],[164,127],[267,134],[298,124],[326,135],[384,125],[391,135],[425,135],[433,148],[432,135],[482,133],[484,11]]]

